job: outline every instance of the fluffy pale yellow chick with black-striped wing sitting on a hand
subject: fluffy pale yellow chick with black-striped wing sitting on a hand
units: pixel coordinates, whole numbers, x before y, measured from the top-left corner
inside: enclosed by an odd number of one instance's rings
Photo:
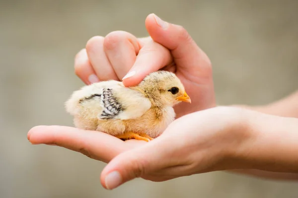
[[[114,80],[84,86],[65,105],[77,128],[148,142],[174,120],[173,106],[182,101],[191,99],[177,76],[157,71],[135,87]]]

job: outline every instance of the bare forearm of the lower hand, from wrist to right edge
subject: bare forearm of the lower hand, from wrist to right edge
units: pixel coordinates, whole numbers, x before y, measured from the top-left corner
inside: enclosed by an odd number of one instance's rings
[[[236,172],[261,177],[298,179],[297,175],[289,177],[289,174],[269,175],[263,172],[298,173],[298,119],[256,112],[248,114],[243,130],[245,134],[250,134],[250,138],[235,151],[231,149],[236,161],[233,169],[248,169]],[[258,170],[262,172],[258,173]]]

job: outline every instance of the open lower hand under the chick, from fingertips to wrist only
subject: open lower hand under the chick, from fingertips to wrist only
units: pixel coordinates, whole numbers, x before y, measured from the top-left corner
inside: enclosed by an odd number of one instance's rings
[[[136,177],[165,181],[235,168],[231,156],[252,139],[241,130],[245,127],[242,114],[233,107],[191,113],[176,119],[149,143],[123,142],[105,133],[60,126],[34,127],[28,139],[32,144],[58,145],[109,162],[101,183],[114,189]]]

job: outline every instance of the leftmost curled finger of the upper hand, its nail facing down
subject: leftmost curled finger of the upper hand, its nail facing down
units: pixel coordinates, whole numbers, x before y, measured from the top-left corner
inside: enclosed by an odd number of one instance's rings
[[[75,55],[74,72],[87,85],[99,82],[89,62],[86,49],[81,49]]]

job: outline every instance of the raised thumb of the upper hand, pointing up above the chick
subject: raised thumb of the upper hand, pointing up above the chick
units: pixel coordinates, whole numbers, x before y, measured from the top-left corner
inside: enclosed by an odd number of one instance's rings
[[[153,41],[171,50],[177,70],[210,77],[210,59],[183,27],[162,21],[155,14],[149,14],[145,23]]]

